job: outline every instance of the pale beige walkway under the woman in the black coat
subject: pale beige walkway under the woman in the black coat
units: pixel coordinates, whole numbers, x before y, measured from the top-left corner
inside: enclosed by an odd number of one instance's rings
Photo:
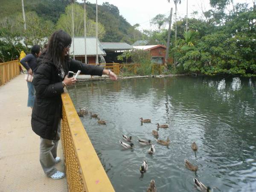
[[[31,128],[25,75],[0,86],[0,192],[67,192],[66,178],[44,175],[39,162],[39,140]],[[63,159],[61,142],[58,156]],[[57,169],[64,172],[64,163]]]

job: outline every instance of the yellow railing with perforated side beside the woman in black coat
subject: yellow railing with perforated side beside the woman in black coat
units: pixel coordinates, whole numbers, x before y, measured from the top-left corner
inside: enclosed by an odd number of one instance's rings
[[[114,192],[68,93],[61,94],[61,141],[70,192]]]

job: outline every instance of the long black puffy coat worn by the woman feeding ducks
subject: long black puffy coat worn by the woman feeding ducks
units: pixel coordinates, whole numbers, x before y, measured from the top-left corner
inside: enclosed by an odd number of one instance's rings
[[[64,92],[61,81],[63,78],[52,62],[42,62],[45,53],[37,61],[33,84],[36,90],[35,103],[32,111],[32,130],[40,137],[48,140],[56,138],[58,122],[62,116],[61,93]],[[71,59],[67,61],[67,69],[93,76],[102,76],[102,67],[83,64]],[[67,71],[65,71],[67,75]]]

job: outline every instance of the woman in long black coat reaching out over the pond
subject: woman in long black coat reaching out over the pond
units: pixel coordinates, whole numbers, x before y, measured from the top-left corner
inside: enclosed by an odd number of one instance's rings
[[[83,64],[69,56],[71,37],[58,30],[49,39],[47,48],[38,58],[33,84],[36,90],[35,104],[32,111],[32,130],[40,138],[40,163],[44,173],[53,179],[61,179],[64,173],[57,171],[55,164],[62,116],[61,93],[64,87],[76,83],[74,77],[68,78],[68,71],[94,76],[109,75],[116,80],[116,74],[102,67]]]

